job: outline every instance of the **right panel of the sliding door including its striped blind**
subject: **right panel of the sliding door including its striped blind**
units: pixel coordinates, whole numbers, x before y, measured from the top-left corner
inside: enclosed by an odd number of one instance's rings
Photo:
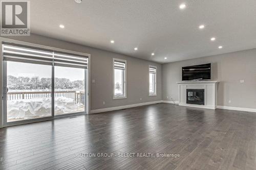
[[[56,116],[86,111],[88,58],[54,52],[54,113]]]

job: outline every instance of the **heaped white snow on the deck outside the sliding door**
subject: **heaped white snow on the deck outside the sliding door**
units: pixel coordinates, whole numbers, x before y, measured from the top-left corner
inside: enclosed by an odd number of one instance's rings
[[[10,121],[51,116],[51,98],[19,99],[7,102],[7,118]],[[74,99],[58,97],[54,99],[55,115],[84,111]]]

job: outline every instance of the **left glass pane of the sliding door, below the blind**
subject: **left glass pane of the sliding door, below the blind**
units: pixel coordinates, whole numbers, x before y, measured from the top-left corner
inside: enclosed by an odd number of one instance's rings
[[[52,66],[6,61],[7,122],[49,117]]]

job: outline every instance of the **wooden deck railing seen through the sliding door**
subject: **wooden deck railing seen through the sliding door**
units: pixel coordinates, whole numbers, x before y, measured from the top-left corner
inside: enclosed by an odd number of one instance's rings
[[[10,91],[7,93],[7,100],[51,98],[51,91]],[[84,105],[84,91],[61,90],[54,91],[54,98],[64,97],[74,99],[76,104]]]

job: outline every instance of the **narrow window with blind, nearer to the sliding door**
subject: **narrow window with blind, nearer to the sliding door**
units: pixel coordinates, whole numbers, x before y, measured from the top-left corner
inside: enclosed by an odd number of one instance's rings
[[[113,58],[114,99],[126,98],[126,60]]]

